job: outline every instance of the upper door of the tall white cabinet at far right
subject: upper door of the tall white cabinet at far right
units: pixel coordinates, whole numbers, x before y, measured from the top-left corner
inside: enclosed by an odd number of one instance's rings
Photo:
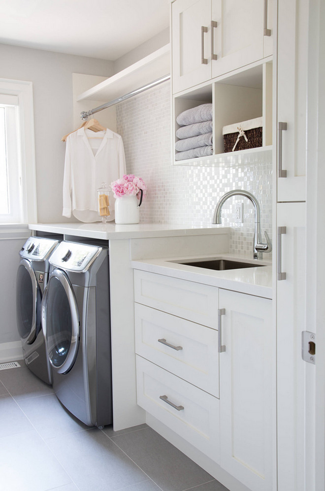
[[[304,201],[308,2],[278,3],[278,201]]]

